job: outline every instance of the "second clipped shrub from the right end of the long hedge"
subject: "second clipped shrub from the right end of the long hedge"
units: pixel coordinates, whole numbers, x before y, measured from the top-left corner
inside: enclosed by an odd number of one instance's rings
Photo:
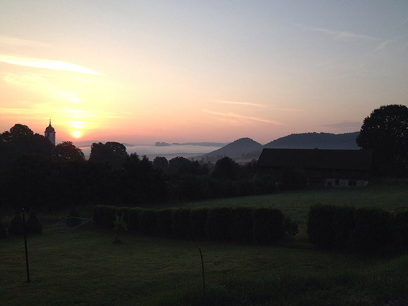
[[[239,243],[252,243],[252,209],[249,207],[234,207],[230,211],[230,239]]]

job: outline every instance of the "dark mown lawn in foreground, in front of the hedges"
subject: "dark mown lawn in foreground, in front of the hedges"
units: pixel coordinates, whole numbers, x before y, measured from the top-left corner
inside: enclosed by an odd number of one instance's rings
[[[108,232],[0,240],[1,305],[381,305],[406,292],[408,257],[198,243]]]

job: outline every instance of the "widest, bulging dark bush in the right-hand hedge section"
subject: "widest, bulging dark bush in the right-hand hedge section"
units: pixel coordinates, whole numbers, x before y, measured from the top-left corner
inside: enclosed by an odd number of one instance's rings
[[[390,253],[394,235],[389,212],[378,208],[356,209],[354,221],[354,230],[350,236],[354,251],[370,256]]]

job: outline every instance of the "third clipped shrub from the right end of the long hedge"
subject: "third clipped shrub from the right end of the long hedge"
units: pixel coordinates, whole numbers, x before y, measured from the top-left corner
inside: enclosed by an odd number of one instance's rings
[[[226,240],[228,236],[229,213],[230,209],[226,207],[214,207],[209,209],[205,225],[208,239],[213,241]]]

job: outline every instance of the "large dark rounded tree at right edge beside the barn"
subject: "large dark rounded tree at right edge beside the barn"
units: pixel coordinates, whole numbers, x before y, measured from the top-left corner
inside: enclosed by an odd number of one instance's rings
[[[366,117],[356,143],[374,150],[376,174],[408,174],[408,108],[381,106]]]

